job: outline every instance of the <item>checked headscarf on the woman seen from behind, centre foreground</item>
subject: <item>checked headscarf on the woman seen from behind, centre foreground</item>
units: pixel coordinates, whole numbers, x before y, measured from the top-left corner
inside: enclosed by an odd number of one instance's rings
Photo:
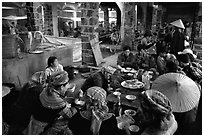
[[[100,101],[102,104],[105,103],[106,95],[106,91],[101,87],[94,86],[87,89],[87,96],[91,99]]]

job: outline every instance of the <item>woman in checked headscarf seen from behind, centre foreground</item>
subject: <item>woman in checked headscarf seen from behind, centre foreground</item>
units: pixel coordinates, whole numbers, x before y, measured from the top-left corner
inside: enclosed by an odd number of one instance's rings
[[[85,94],[85,110],[71,118],[69,127],[75,135],[117,134],[116,117],[108,111],[106,91],[100,87],[91,87]]]

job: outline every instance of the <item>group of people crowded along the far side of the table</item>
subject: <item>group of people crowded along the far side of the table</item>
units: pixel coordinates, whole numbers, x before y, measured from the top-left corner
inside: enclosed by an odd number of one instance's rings
[[[119,68],[131,67],[136,70],[155,68],[159,75],[169,72],[182,73],[194,81],[202,81],[202,67],[191,50],[184,35],[184,25],[176,22],[169,27],[172,32],[159,37],[157,33],[147,30],[133,55],[130,46],[124,46],[119,54]],[[155,52],[148,51],[150,48]]]

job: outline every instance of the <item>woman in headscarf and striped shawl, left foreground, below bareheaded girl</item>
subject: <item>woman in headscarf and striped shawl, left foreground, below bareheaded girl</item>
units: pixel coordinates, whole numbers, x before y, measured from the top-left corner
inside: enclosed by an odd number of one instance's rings
[[[41,92],[35,107],[33,107],[33,115],[24,134],[70,133],[67,121],[77,110],[64,100],[70,92],[68,80],[68,74],[65,71],[50,76],[47,87]],[[60,121],[60,124],[56,124],[56,121]],[[53,128],[53,126],[58,127]],[[53,133],[50,128],[58,130]]]

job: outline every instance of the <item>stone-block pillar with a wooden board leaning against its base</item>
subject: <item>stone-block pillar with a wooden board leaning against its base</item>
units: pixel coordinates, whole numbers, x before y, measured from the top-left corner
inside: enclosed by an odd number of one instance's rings
[[[98,28],[98,2],[82,2],[81,3],[81,28],[82,28],[82,64],[95,66],[95,58],[90,45],[90,40],[98,39],[98,33],[95,29]]]

